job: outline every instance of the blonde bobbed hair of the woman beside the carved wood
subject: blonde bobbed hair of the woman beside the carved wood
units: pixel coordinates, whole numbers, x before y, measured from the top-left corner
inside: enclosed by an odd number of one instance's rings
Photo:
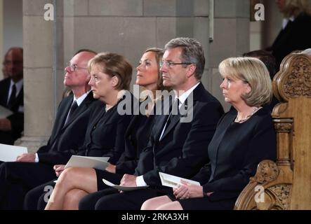
[[[230,57],[219,64],[221,76],[238,78],[251,86],[251,91],[241,96],[249,106],[263,106],[272,99],[272,82],[267,67],[254,57]]]

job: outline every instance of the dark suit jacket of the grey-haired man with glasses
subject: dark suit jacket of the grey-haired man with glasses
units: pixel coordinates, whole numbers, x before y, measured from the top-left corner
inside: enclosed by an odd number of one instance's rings
[[[168,116],[155,118],[150,141],[135,170],[135,175],[143,175],[149,186],[161,186],[159,172],[191,178],[208,162],[207,147],[223,107],[201,83],[191,94],[193,106],[187,106],[188,112],[193,112],[191,122],[180,123],[180,115],[174,116],[159,140]]]

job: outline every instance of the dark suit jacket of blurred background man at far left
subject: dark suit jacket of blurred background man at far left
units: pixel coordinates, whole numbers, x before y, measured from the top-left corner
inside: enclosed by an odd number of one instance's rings
[[[0,105],[8,108],[8,90],[10,90],[11,78],[6,78],[0,81]],[[10,108],[13,111],[11,116],[8,116],[8,120],[11,121],[12,130],[9,132],[0,131],[0,143],[2,144],[14,144],[14,141],[20,138],[22,131],[24,130],[24,113],[19,112],[20,107],[24,106],[24,90],[23,87],[16,97],[15,103]]]

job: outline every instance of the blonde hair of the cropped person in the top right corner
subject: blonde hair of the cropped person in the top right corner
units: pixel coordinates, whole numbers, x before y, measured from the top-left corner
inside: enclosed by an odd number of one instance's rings
[[[310,13],[308,0],[286,0],[282,13],[286,18],[296,18],[299,13]]]

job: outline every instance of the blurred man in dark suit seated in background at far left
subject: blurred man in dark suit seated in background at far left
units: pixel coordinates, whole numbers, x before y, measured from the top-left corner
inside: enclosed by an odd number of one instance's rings
[[[0,81],[0,105],[13,114],[0,118],[0,144],[13,145],[24,130],[22,61],[22,48],[10,48],[6,53],[4,66],[9,77]]]

